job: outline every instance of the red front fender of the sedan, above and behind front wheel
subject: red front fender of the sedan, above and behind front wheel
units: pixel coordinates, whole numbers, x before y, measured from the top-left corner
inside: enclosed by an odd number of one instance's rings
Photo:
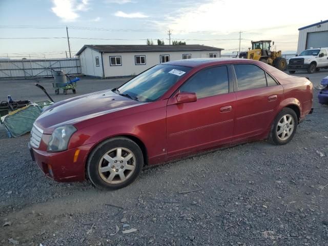
[[[76,124],[78,131],[69,149],[93,143],[94,148],[106,139],[127,135],[138,138],[146,147],[149,164],[166,157],[167,100],[155,101]],[[86,126],[87,125],[87,126]]]

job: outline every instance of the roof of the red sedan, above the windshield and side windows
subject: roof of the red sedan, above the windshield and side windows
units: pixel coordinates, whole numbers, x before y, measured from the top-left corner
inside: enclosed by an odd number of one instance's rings
[[[168,61],[167,63],[163,63],[165,65],[176,65],[176,66],[186,66],[186,67],[207,67],[212,65],[220,65],[220,64],[232,64],[232,63],[258,63],[256,60],[249,60],[243,58],[191,58],[191,59],[183,59],[183,60],[173,60]]]

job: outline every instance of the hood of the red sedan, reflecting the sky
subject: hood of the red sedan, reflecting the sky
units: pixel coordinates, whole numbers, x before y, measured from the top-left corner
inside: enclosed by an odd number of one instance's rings
[[[45,133],[51,133],[58,126],[73,125],[141,104],[144,103],[120,96],[111,90],[99,91],[59,101],[46,109],[36,119],[35,124],[45,130]]]

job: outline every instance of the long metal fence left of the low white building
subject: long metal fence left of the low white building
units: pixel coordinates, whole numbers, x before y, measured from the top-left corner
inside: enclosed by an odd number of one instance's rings
[[[81,73],[79,58],[0,60],[0,79],[52,77],[53,71]]]

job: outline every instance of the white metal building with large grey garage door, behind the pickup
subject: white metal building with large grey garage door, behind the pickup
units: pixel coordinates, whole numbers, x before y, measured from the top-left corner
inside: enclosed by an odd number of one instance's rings
[[[311,48],[328,47],[328,19],[298,30],[297,54]]]

